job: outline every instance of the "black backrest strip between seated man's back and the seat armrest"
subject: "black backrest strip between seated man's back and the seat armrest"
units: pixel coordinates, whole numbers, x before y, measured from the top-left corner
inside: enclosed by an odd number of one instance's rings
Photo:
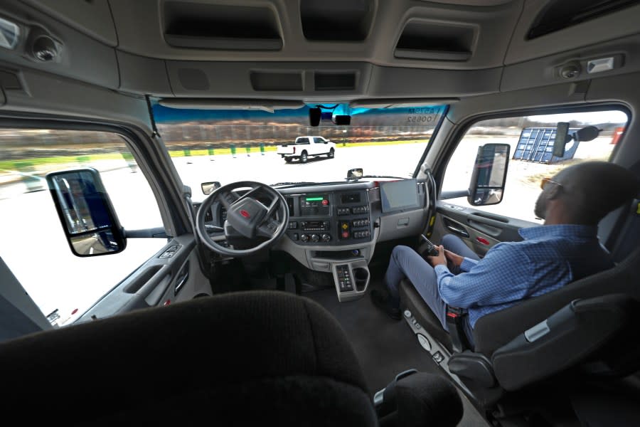
[[[480,317],[474,327],[475,351],[491,354],[572,300],[622,293],[640,299],[640,246],[614,268],[576,280],[563,288]]]

